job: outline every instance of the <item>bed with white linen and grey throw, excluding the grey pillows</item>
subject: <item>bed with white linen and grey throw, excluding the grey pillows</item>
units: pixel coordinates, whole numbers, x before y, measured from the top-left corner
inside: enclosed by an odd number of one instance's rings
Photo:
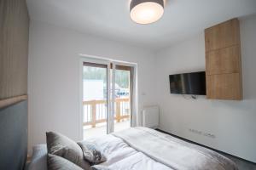
[[[168,134],[146,127],[132,127],[96,139],[89,139],[99,147],[107,161],[94,169],[110,170],[236,170],[230,159],[196,144],[190,144]],[[46,169],[46,145],[40,144],[41,157],[33,153],[29,170]],[[42,151],[43,150],[43,151]],[[38,157],[36,157],[38,156]],[[42,161],[38,161],[38,160]],[[35,163],[33,160],[36,160]],[[43,164],[42,164],[43,163]],[[38,164],[38,165],[37,165]],[[43,166],[42,166],[43,165]],[[39,168],[40,167],[40,168]]]

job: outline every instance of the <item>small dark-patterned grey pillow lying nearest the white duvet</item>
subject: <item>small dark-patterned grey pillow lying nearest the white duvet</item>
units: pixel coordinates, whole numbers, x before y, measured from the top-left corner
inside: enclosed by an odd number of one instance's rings
[[[82,148],[84,153],[84,159],[89,161],[90,164],[99,164],[103,161],[107,161],[106,156],[104,156],[96,144],[88,141],[78,142],[79,146]]]

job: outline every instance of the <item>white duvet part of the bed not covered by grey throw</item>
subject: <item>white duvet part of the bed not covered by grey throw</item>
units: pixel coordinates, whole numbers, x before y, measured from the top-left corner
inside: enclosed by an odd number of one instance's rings
[[[114,170],[171,170],[111,134],[90,141],[96,143],[107,156],[108,161],[100,164],[101,166]]]

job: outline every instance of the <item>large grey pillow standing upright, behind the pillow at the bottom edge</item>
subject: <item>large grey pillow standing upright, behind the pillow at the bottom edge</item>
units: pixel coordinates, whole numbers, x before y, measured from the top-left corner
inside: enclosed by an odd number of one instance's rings
[[[48,132],[46,133],[46,140],[49,154],[61,156],[85,170],[91,169],[89,162],[84,160],[83,151],[79,144],[72,139],[60,133]]]

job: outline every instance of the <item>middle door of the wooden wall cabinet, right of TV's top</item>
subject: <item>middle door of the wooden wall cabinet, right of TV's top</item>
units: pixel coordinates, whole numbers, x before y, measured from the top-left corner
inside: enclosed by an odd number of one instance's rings
[[[240,48],[238,45],[207,52],[207,75],[236,73],[240,71]]]

